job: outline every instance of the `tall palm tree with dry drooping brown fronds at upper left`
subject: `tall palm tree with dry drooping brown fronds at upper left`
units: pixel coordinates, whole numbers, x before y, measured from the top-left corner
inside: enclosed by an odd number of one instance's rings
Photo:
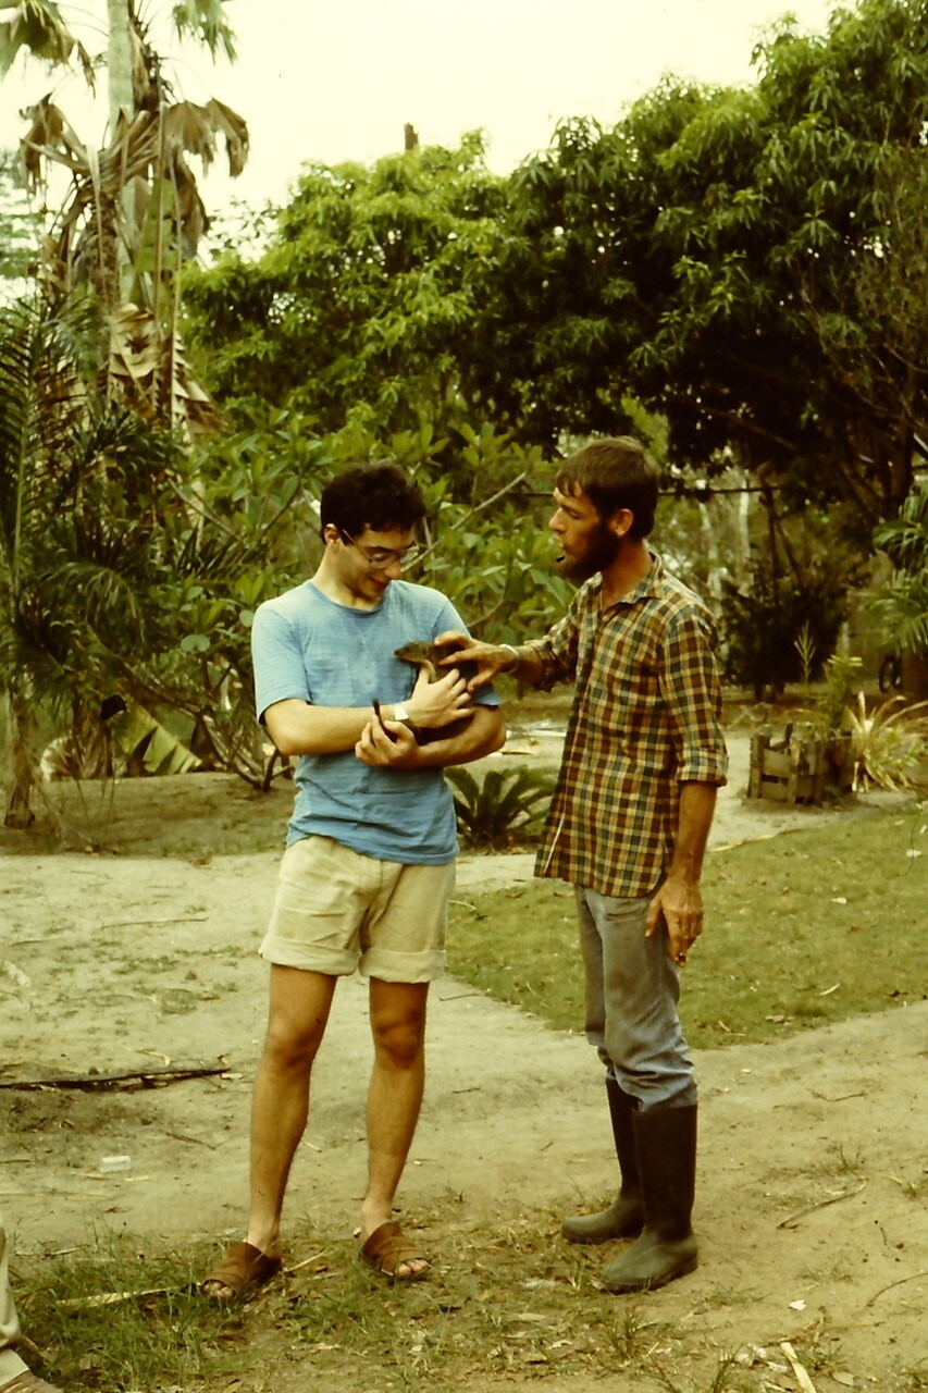
[[[52,0],[0,11],[0,71],[21,49],[50,63],[82,63],[86,50]],[[234,57],[222,0],[181,0],[180,36]],[[102,387],[152,419],[195,429],[212,419],[187,368],[178,334],[180,272],[209,226],[190,157],[208,167],[224,141],[230,174],[248,157],[248,128],[222,102],[177,100],[135,0],[107,0],[109,143],[93,150],[50,96],[29,109],[21,142],[32,189],[52,166],[68,170],[68,201],[46,242],[42,284],[54,298],[91,293],[100,306]]]

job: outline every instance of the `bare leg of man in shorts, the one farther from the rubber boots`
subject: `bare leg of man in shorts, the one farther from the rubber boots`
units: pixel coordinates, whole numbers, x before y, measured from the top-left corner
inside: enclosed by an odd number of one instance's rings
[[[270,1011],[251,1109],[251,1216],[247,1243],[268,1252],[280,1233],[290,1166],[309,1114],[309,1074],[325,1035],[337,978],[270,968]],[[219,1282],[208,1295],[229,1300]]]

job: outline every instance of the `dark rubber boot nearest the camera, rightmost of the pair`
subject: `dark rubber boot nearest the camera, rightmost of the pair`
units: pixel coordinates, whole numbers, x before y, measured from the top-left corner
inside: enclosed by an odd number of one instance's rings
[[[698,1262],[690,1226],[695,1187],[695,1107],[634,1113],[633,1126],[644,1229],[602,1275],[606,1291],[649,1291],[693,1272]]]

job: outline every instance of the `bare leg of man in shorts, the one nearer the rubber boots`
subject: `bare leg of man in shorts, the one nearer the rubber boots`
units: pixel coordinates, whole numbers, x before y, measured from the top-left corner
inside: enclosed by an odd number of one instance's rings
[[[429,983],[371,978],[373,1073],[368,1091],[368,1191],[361,1206],[361,1240],[393,1217],[425,1087],[425,1011]],[[400,1263],[397,1276],[426,1268]]]

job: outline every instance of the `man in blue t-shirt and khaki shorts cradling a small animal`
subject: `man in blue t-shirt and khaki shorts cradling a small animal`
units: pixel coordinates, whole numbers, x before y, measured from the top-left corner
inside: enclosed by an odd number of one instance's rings
[[[392,1216],[422,1100],[428,990],[444,968],[454,886],[454,804],[442,770],[499,749],[504,730],[492,692],[472,699],[456,670],[429,683],[394,655],[461,627],[443,595],[401,579],[424,517],[418,488],[399,469],[347,469],[322,493],[315,575],[255,614],[258,716],[277,749],[298,756],[297,794],[261,946],[270,1014],[255,1078],[251,1219],[245,1241],[203,1283],[217,1301],[281,1265],[280,1212],[309,1074],[339,976],[355,968],[369,978],[375,1046],[361,1255],[397,1280],[428,1269]]]

